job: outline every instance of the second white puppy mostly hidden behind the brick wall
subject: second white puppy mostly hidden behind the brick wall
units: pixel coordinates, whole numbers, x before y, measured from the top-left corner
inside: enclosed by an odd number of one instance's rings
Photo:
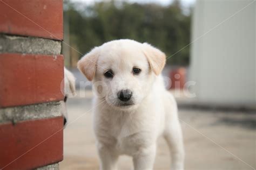
[[[66,123],[68,122],[68,112],[66,111],[66,100],[68,97],[73,97],[76,95],[76,86],[75,86],[75,77],[73,74],[64,67],[64,91],[65,95],[64,101],[60,101],[62,107],[62,115],[64,117],[64,128]]]

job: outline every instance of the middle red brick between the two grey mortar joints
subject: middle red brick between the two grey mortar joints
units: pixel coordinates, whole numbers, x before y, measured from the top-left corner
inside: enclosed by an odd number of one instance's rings
[[[0,107],[63,100],[63,55],[0,54]]]

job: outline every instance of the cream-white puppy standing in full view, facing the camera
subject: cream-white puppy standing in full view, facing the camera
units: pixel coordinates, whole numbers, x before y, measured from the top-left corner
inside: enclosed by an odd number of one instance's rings
[[[146,43],[121,39],[95,47],[78,69],[95,91],[93,124],[100,169],[117,169],[130,155],[135,170],[153,169],[157,139],[171,151],[171,169],[183,169],[183,136],[174,97],[160,75],[165,54]]]

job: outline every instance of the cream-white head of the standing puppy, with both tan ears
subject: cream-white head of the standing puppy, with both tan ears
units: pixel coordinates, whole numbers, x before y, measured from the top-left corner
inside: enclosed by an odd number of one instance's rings
[[[165,54],[159,49],[127,39],[93,48],[78,62],[98,97],[119,109],[142,103],[164,65]]]

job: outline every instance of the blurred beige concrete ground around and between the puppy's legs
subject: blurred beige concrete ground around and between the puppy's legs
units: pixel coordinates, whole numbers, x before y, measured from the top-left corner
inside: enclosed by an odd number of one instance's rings
[[[92,94],[68,100],[69,126],[64,130],[64,160],[60,169],[98,169],[92,131]],[[255,111],[213,111],[179,108],[183,128],[185,169],[255,169]],[[170,169],[170,154],[161,138],[154,169]],[[122,156],[118,168],[132,169],[132,160]]]

